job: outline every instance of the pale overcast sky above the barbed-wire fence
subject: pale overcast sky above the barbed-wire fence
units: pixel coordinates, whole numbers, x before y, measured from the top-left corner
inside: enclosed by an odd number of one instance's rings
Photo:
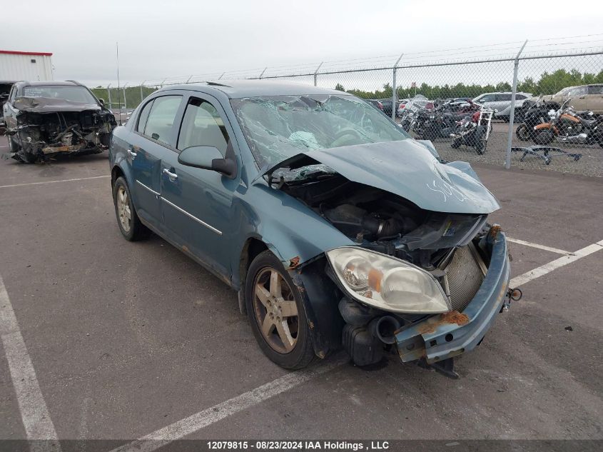
[[[116,80],[116,41],[123,84],[603,33],[601,0],[567,5],[525,0],[25,1],[19,8],[27,14],[3,21],[0,46],[53,52],[55,79],[96,86]],[[581,42],[601,46],[602,38]]]

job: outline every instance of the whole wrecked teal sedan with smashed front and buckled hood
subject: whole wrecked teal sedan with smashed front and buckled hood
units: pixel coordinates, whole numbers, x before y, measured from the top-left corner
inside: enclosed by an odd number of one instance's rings
[[[510,301],[495,196],[355,96],[172,86],[115,129],[109,158],[123,236],[153,231],[238,291],[284,368],[344,348],[455,377]]]

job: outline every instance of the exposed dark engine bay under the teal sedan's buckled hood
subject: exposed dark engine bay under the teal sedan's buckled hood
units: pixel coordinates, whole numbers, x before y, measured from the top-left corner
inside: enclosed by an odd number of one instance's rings
[[[451,248],[482,231],[487,215],[447,214],[339,174],[284,182],[281,189],[320,214],[363,248],[401,258],[430,271]]]

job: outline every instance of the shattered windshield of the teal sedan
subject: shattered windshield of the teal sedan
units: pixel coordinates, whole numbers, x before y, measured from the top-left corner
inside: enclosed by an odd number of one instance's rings
[[[354,96],[265,96],[230,101],[260,169],[315,149],[399,141],[408,135]],[[292,171],[303,177],[323,165]]]

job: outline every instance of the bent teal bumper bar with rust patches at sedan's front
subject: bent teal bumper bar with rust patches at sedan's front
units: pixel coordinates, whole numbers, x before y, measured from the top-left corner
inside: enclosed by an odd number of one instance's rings
[[[482,341],[507,296],[510,264],[504,233],[492,228],[480,246],[491,255],[482,286],[462,313],[432,316],[397,331],[402,362],[440,363],[472,350]]]

